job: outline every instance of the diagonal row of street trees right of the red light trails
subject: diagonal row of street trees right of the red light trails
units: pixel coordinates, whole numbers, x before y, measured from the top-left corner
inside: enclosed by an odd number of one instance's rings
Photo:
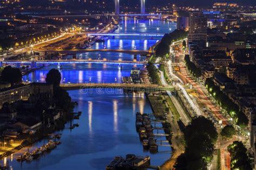
[[[248,124],[248,118],[239,110],[237,104],[235,104],[230,97],[223,93],[218,86],[215,86],[212,79],[207,78],[205,81],[205,87],[208,92],[214,97],[216,102],[225,109],[227,113],[234,119],[235,123],[244,128]]]

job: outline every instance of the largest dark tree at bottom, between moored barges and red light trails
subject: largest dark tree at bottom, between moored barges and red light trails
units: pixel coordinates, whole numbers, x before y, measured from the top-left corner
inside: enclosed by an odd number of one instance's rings
[[[185,152],[174,167],[176,169],[207,169],[213,158],[218,133],[214,124],[203,116],[193,118],[184,131]]]

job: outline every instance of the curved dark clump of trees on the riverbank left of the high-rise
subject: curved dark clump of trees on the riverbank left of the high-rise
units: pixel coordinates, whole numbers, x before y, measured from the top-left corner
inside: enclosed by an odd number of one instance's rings
[[[186,37],[187,32],[184,30],[174,30],[169,34],[165,34],[156,47],[156,56],[164,57],[166,54],[169,54],[172,42],[185,39]]]

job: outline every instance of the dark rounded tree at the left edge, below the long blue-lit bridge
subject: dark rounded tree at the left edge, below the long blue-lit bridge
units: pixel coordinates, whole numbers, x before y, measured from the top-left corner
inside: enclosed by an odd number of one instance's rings
[[[1,80],[15,85],[22,82],[22,73],[18,68],[12,68],[11,66],[4,67],[1,75]]]

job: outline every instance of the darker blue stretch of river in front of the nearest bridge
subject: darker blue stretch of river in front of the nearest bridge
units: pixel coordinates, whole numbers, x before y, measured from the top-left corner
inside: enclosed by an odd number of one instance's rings
[[[115,155],[125,156],[128,153],[150,155],[152,165],[161,165],[170,157],[170,147],[159,146],[159,153],[151,154],[144,151],[140,143],[135,127],[136,111],[152,112],[144,94],[126,95],[122,90],[115,94],[107,94],[103,90],[101,95],[96,90],[86,94],[79,90],[69,93],[72,100],[78,102],[75,111],[83,112],[80,119],[74,121],[79,123],[79,127],[57,132],[62,133],[62,144],[30,163],[21,165],[16,161],[17,155],[27,148],[15,153],[13,159],[8,157],[6,160],[12,169],[105,169]],[[47,141],[38,141],[29,150]]]

